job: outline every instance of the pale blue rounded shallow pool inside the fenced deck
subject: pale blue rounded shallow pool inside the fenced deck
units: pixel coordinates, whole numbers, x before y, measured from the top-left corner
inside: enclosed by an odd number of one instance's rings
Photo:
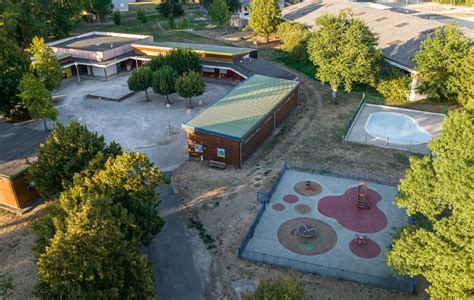
[[[418,126],[415,119],[394,112],[371,114],[365,124],[365,131],[374,137],[400,145],[423,144],[433,138]]]

